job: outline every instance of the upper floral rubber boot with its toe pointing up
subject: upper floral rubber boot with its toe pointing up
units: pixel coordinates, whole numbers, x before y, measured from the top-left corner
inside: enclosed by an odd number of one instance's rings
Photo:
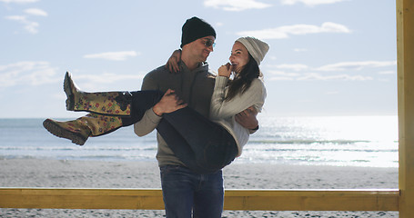
[[[80,91],[66,72],[64,90],[66,110],[86,111],[95,114],[130,116],[132,95],[129,92],[86,93]]]

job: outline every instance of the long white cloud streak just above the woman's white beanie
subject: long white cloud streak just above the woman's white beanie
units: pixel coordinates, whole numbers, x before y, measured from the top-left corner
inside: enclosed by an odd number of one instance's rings
[[[290,35],[308,35],[320,33],[345,33],[351,31],[345,25],[325,22],[322,25],[283,25],[277,28],[269,28],[256,31],[242,31],[237,35],[251,35],[261,39],[284,39]]]

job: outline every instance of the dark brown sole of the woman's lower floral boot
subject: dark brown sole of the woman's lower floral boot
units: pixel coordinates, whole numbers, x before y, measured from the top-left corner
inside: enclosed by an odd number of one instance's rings
[[[69,130],[66,130],[65,128],[62,128],[58,124],[55,124],[50,119],[46,119],[43,122],[43,126],[49,133],[54,134],[59,138],[69,139],[74,144],[78,144],[82,146],[86,143],[86,138],[84,136],[82,136],[81,134],[77,134]]]

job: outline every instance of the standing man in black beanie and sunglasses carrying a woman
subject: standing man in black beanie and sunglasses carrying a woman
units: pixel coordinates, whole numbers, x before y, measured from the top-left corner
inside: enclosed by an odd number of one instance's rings
[[[213,52],[216,32],[205,21],[192,17],[182,27],[181,62],[177,74],[161,66],[146,74],[141,90],[175,91],[189,107],[208,117],[214,78],[206,63]],[[135,133],[143,136],[151,133],[162,119],[168,105],[160,103],[146,111],[134,125]],[[256,114],[239,114],[240,124],[248,129],[257,126]],[[157,134],[157,161],[161,171],[161,185],[167,217],[221,217],[224,202],[222,172],[199,174],[189,170],[169,149]]]

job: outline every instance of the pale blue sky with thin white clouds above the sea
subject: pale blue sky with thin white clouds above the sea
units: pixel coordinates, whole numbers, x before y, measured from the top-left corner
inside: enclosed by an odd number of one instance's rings
[[[397,114],[394,0],[0,0],[0,118],[76,117],[84,91],[139,90],[179,48],[192,16],[216,29],[213,71],[234,41],[270,46],[265,116]]]

